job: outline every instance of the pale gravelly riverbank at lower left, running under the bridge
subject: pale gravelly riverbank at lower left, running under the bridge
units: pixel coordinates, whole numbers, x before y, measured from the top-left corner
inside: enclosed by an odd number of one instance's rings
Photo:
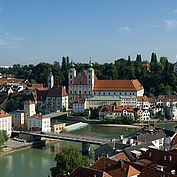
[[[9,139],[5,143],[5,148],[3,148],[2,151],[0,151],[0,157],[15,153],[18,151],[23,151],[23,150],[30,149],[33,147],[42,147],[46,144],[60,142],[60,141],[61,140],[43,139],[42,141],[24,143],[24,142],[15,141],[13,139]]]

